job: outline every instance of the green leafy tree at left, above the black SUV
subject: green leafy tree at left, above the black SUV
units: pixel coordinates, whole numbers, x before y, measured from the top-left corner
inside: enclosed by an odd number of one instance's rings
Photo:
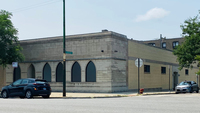
[[[0,65],[3,67],[24,60],[17,37],[18,31],[12,24],[11,16],[10,12],[0,11]]]

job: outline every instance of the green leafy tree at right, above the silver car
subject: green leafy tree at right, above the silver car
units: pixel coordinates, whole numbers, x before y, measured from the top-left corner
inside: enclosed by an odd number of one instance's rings
[[[199,11],[200,14],[200,11]],[[199,15],[189,18],[181,25],[184,42],[177,46],[173,53],[177,56],[179,69],[193,68],[195,57],[200,55],[200,18]]]

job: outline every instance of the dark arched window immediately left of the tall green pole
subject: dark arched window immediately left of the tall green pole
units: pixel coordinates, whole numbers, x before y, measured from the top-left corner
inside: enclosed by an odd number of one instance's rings
[[[56,82],[63,82],[63,64],[61,62],[56,68]]]

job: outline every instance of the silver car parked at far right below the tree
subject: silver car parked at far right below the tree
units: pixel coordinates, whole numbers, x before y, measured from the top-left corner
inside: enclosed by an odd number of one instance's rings
[[[196,91],[199,93],[199,87],[196,82],[194,81],[183,81],[179,85],[176,86],[175,88],[176,94],[177,93],[186,93],[186,92],[194,92]]]

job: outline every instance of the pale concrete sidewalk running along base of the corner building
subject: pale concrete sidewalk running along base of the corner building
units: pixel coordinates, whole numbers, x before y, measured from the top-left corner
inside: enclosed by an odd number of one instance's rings
[[[138,94],[137,92],[119,92],[119,93],[72,93],[67,92],[66,97],[63,97],[62,92],[52,92],[51,98],[111,98],[111,97],[131,97],[139,95],[164,95],[164,94],[175,94],[174,91],[160,91],[160,92],[144,92]]]

